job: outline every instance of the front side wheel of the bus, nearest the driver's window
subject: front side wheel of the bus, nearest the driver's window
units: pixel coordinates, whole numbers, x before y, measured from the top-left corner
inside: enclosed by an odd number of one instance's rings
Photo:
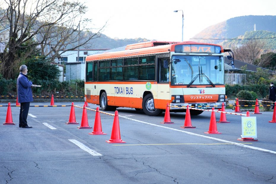
[[[154,108],[154,100],[152,94],[147,94],[143,98],[142,107],[145,114],[149,116],[158,116],[163,112],[162,109]]]

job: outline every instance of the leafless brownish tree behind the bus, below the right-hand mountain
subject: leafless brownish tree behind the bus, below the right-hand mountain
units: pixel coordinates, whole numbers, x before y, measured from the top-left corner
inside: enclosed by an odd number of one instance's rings
[[[245,44],[240,47],[235,47],[233,52],[235,59],[243,61],[245,63],[254,64],[255,60],[265,51],[265,42],[259,40],[248,40]],[[265,66],[267,61],[261,61],[258,66]]]

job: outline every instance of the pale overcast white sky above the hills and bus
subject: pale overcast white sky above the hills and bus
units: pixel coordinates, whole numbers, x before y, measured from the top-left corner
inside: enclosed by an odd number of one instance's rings
[[[184,41],[208,26],[244,15],[276,15],[276,0],[104,0],[85,2],[86,18],[95,28],[106,22],[103,34],[111,38],[146,38],[181,41],[182,11]],[[254,25],[252,25],[253,27]],[[258,25],[256,25],[258,30]]]

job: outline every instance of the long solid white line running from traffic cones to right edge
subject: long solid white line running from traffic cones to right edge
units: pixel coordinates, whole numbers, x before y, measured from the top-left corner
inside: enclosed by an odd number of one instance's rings
[[[260,148],[260,147],[254,147],[254,146],[244,145],[244,144],[240,144],[240,143],[237,143],[237,142],[232,142],[232,141],[226,141],[226,140],[223,140],[223,139],[218,139],[218,138],[215,138],[215,137],[208,137],[208,136],[205,136],[205,135],[195,134],[195,133],[184,131],[184,130],[173,129],[173,128],[169,128],[169,127],[166,127],[166,126],[161,126],[161,125],[156,125],[156,124],[152,124],[152,123],[147,123],[145,121],[135,120],[135,119],[127,118],[127,117],[120,116],[120,115],[119,115],[119,117],[126,118],[126,119],[129,119],[129,120],[132,120],[132,121],[137,121],[139,123],[144,123],[144,124],[148,124],[148,125],[152,125],[152,126],[161,127],[161,128],[164,128],[164,129],[170,129],[170,130],[174,130],[174,131],[180,131],[180,132],[184,132],[184,133],[190,134],[190,135],[204,137],[204,138],[207,138],[207,139],[213,139],[213,140],[220,141],[220,142],[226,142],[226,143],[234,144],[234,145],[241,146],[241,147],[247,147],[247,148],[250,148],[250,149],[253,149],[253,150],[259,150],[259,151],[264,151],[264,152],[269,152],[269,153],[276,154],[276,151],[266,150],[266,149],[263,149],[263,148]]]

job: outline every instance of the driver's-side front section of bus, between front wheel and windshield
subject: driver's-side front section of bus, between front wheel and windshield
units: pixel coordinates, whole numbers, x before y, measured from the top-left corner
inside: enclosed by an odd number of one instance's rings
[[[164,67],[164,60],[167,60],[169,64],[170,58],[158,58],[157,99],[159,109],[166,109],[167,103],[170,104],[169,67]]]

